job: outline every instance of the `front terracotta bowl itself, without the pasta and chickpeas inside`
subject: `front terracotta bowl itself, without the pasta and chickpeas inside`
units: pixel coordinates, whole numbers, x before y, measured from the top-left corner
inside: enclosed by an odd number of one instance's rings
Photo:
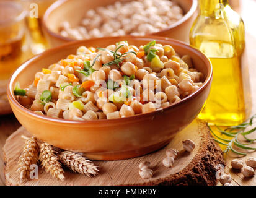
[[[190,55],[196,69],[206,77],[203,86],[189,97],[163,110],[128,118],[97,121],[70,121],[40,116],[15,100],[15,82],[20,82],[22,88],[27,87],[32,83],[37,71],[76,53],[79,46],[104,48],[122,40],[137,46],[156,40],[163,45],[172,45],[180,55]],[[200,113],[208,97],[212,75],[209,59],[197,49],[177,40],[154,36],[95,38],[49,49],[25,62],[12,75],[7,87],[7,96],[16,118],[27,131],[39,139],[61,149],[84,152],[94,160],[121,160],[160,149],[168,144],[177,132],[190,124]]]

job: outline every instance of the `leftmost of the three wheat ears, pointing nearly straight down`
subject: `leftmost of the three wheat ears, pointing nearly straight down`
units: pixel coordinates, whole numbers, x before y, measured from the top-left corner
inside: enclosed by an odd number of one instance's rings
[[[20,183],[29,178],[30,165],[37,164],[39,147],[35,137],[26,137],[25,145],[19,157],[17,172],[20,174]]]

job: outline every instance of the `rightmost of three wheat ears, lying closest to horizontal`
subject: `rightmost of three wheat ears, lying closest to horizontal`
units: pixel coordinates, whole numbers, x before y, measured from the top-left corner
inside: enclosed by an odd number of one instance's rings
[[[82,153],[63,151],[59,157],[62,163],[75,173],[90,177],[96,176],[99,172],[98,166],[95,166],[88,158],[82,157]]]

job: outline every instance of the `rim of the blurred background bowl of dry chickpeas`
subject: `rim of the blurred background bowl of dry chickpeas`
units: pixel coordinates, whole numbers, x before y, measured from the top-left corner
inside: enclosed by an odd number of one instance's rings
[[[42,26],[43,26],[43,29],[48,34],[50,34],[52,37],[58,38],[63,41],[77,41],[76,39],[69,38],[69,37],[63,37],[62,35],[60,35],[60,33],[53,32],[52,30],[50,30],[50,28],[48,28],[48,25],[47,25],[48,16],[51,14],[51,12],[67,1],[69,1],[69,0],[58,0],[58,1],[54,2],[53,4],[51,4],[51,6],[48,7],[45,14],[43,15]],[[152,33],[152,35],[158,35],[158,34],[167,32],[169,30],[172,30],[174,28],[177,28],[180,25],[182,25],[184,22],[186,22],[188,19],[190,19],[190,17],[192,17],[192,15],[196,12],[197,7],[198,7],[197,0],[192,0],[192,1],[193,2],[192,2],[192,6],[190,7],[190,10],[182,17],[182,19],[178,20],[177,22],[175,22],[172,25],[169,25],[169,27],[165,28],[164,30]]]

